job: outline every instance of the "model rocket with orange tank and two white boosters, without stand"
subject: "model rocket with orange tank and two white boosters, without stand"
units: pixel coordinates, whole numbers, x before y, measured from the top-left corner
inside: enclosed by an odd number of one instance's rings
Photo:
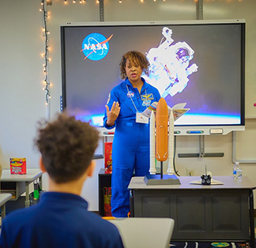
[[[174,153],[174,118],[172,110],[168,115],[168,105],[164,98],[161,98],[156,106],[156,117],[154,111],[150,118],[150,167],[149,174],[156,174],[155,159],[160,161],[168,160],[168,175],[174,174],[173,153]],[[162,166],[161,166],[162,169]],[[162,171],[161,171],[162,172]]]

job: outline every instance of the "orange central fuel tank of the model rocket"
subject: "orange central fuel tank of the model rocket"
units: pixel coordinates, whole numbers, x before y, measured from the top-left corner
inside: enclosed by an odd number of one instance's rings
[[[156,106],[156,160],[168,159],[168,105],[161,98]]]

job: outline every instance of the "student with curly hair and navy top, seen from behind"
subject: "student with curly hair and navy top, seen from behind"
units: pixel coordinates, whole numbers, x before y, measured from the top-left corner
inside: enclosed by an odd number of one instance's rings
[[[36,138],[40,168],[49,175],[49,191],[39,203],[9,213],[3,220],[0,247],[122,248],[117,228],[88,212],[81,195],[92,176],[98,132],[86,122],[58,115],[42,123]]]

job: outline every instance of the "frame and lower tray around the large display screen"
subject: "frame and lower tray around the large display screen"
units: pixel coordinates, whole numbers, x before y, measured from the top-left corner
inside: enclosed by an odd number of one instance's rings
[[[196,134],[227,134],[235,130],[245,130],[245,52],[246,52],[246,22],[245,20],[220,20],[220,21],[145,21],[145,22],[93,22],[93,23],[67,23],[60,27],[61,32],[61,62],[62,62],[62,110],[66,109],[66,54],[65,54],[65,28],[81,27],[81,26],[145,26],[145,25],[207,25],[207,24],[239,24],[241,25],[241,98],[240,98],[240,124],[222,124],[222,125],[179,125],[175,126],[175,133],[181,135],[194,134],[194,131],[201,131]],[[100,126],[99,126],[100,127]],[[217,130],[214,132],[214,130]],[[191,133],[191,132],[192,133]],[[213,131],[213,132],[212,132]]]

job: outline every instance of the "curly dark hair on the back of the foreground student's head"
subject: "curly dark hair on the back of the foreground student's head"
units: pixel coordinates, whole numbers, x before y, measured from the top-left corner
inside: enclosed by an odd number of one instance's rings
[[[98,131],[87,122],[60,114],[52,122],[40,123],[36,146],[51,179],[63,183],[80,178],[86,171],[98,139]]]

